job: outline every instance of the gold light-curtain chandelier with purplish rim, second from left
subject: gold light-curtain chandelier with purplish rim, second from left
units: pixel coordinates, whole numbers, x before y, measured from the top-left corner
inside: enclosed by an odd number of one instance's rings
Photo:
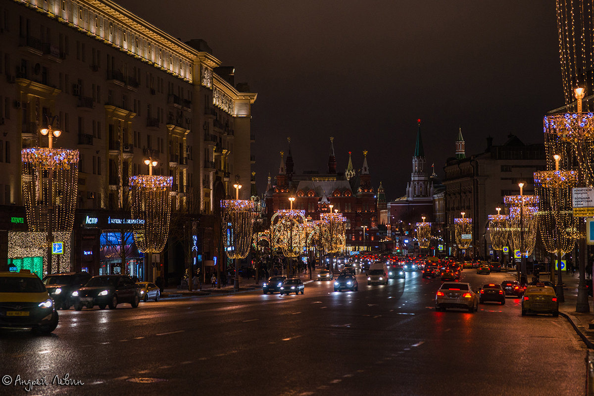
[[[132,230],[138,250],[160,253],[169,235],[171,176],[132,176]]]

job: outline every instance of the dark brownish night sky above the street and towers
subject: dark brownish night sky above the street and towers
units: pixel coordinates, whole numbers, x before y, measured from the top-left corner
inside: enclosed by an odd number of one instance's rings
[[[486,137],[539,143],[564,104],[552,0],[120,0],[181,40],[204,39],[235,83],[258,93],[252,151],[258,190],[291,137],[295,171],[339,170],[348,151],[388,199],[410,180],[416,120],[430,170],[443,177],[459,126],[466,154]]]

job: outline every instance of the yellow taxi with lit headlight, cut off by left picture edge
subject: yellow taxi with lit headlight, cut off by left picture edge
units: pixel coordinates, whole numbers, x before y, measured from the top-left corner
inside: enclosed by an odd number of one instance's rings
[[[0,327],[31,328],[50,334],[58,326],[58,311],[43,282],[29,270],[0,272]]]

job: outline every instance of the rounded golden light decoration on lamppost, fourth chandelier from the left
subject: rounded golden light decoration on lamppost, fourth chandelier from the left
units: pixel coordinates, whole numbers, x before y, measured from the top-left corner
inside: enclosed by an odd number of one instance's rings
[[[299,256],[305,247],[306,221],[304,210],[277,210],[270,219],[270,235],[274,249],[282,249],[285,257]]]

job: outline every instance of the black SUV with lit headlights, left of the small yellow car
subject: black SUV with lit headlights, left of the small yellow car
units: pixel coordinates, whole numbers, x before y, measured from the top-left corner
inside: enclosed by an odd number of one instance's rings
[[[74,309],[80,311],[83,306],[100,309],[115,309],[120,303],[129,303],[136,308],[140,302],[140,289],[127,275],[99,275],[90,278],[84,287],[71,294]]]

